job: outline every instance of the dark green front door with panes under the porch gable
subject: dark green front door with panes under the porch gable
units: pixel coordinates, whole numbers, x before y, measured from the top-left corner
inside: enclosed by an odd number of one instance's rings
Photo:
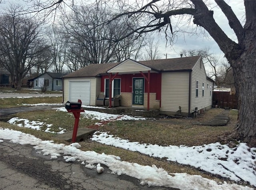
[[[132,105],[144,105],[144,78],[133,78]]]

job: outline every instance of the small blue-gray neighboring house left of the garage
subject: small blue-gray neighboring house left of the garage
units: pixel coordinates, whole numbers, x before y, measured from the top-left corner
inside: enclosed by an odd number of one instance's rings
[[[47,90],[62,90],[62,73],[46,72],[30,81],[34,82],[34,89],[42,89],[44,85],[48,86]]]

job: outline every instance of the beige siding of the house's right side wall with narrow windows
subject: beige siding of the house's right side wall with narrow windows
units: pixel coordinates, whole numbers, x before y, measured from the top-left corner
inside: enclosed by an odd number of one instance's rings
[[[204,64],[199,59],[193,67],[192,71],[192,86],[191,86],[191,110],[196,107],[198,110],[206,109],[212,105],[212,93],[210,95],[210,86],[212,82],[206,78]],[[198,81],[198,97],[196,97],[196,81]],[[202,83],[204,83],[204,96],[202,95]],[[208,84],[208,88],[207,88]]]

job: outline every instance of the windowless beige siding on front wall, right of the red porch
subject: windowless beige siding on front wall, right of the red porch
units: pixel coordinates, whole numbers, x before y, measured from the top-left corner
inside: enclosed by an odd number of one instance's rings
[[[162,73],[160,111],[188,113],[189,71]]]

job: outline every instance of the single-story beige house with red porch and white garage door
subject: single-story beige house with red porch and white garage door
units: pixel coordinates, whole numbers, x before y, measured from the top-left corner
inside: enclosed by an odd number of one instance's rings
[[[110,88],[111,87],[111,88]],[[96,105],[96,95],[106,99],[121,95],[120,105],[158,109],[182,115],[212,107],[213,80],[206,77],[200,56],[91,64],[63,77],[63,102],[82,100]],[[111,101],[110,101],[111,102]]]

